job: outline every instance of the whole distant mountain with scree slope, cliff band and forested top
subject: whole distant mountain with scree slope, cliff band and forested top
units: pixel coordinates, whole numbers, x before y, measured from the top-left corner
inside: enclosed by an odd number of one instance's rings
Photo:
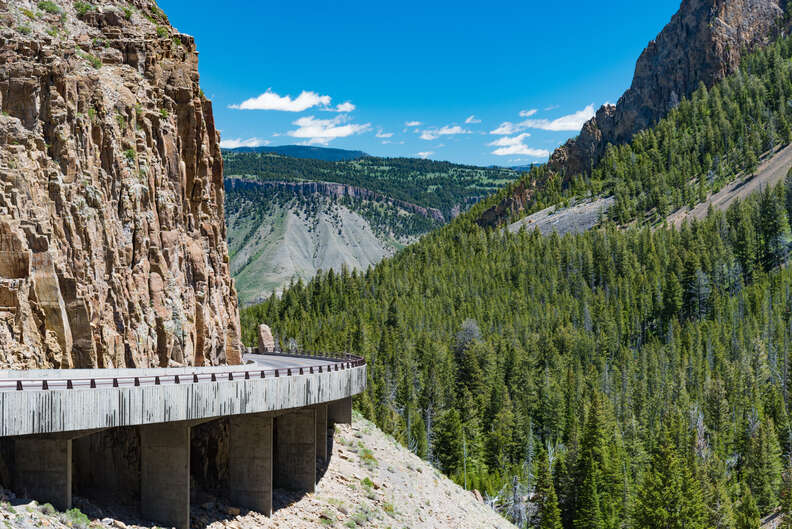
[[[365,270],[517,178],[410,158],[223,158],[230,266],[243,305],[319,270]]]

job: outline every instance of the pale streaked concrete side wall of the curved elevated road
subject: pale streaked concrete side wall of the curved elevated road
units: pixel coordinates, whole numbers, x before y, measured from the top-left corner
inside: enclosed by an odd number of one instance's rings
[[[350,397],[365,386],[366,366],[359,366],[197,384],[0,392],[0,437],[288,410]]]

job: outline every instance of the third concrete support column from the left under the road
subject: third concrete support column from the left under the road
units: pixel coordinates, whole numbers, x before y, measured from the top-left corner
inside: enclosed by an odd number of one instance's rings
[[[229,420],[229,499],[272,514],[272,415],[236,415]]]

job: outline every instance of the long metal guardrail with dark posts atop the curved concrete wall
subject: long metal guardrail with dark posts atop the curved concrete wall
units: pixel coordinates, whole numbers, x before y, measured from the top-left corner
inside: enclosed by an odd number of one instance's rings
[[[234,380],[251,380],[254,378],[297,376],[316,373],[328,373],[352,369],[366,364],[366,361],[359,356],[345,354],[340,358],[329,356],[310,356],[300,354],[267,353],[277,356],[288,356],[293,358],[315,358],[328,360],[326,364],[316,366],[295,366],[281,367],[276,369],[240,369],[244,366],[229,366],[236,369],[228,371],[212,371],[211,373],[201,373],[200,367],[185,368],[184,373],[169,373],[167,375],[145,375],[134,376],[124,375],[115,377],[75,377],[75,378],[6,378],[0,379],[0,391],[48,391],[48,390],[73,390],[73,389],[95,389],[108,387],[136,387],[136,386],[159,386],[163,384],[199,384],[202,382],[220,382]],[[172,368],[169,370],[172,371]],[[66,370],[68,371],[68,370]]]

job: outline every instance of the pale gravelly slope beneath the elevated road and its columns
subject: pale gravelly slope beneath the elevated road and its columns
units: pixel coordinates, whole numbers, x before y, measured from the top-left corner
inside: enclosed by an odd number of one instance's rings
[[[192,517],[197,527],[207,529],[514,527],[363,419],[336,427],[330,463],[322,469],[315,493],[293,496],[276,489],[274,498],[271,518],[227,505],[222,499],[193,504]],[[49,505],[0,489],[0,521],[24,529],[155,527],[120,507],[102,510],[82,498],[75,498],[75,504],[76,511],[57,513]]]

